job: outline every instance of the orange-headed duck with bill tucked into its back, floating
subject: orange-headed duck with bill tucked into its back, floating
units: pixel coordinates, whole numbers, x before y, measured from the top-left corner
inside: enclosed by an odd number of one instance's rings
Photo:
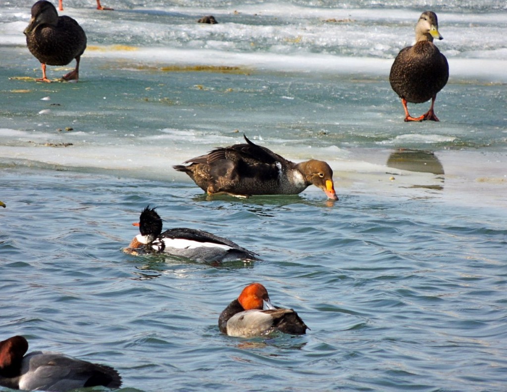
[[[293,309],[273,306],[268,291],[260,283],[246,286],[219,318],[220,332],[237,337],[268,335],[281,331],[304,335],[310,329]]]

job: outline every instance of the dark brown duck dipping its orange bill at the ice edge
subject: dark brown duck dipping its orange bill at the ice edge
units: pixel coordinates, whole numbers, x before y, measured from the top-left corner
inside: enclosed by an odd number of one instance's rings
[[[266,147],[252,143],[219,147],[173,166],[187,173],[208,194],[230,194],[247,197],[251,194],[298,194],[313,184],[329,199],[338,200],[333,183],[333,170],[317,160],[301,163],[287,161]]]

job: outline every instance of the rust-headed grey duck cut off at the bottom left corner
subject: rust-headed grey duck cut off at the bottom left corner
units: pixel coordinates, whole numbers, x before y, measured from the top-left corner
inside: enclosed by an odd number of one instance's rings
[[[28,342],[13,336],[0,342],[0,385],[13,389],[65,392],[86,386],[119,388],[118,372],[109,367],[56,352],[33,351]]]

